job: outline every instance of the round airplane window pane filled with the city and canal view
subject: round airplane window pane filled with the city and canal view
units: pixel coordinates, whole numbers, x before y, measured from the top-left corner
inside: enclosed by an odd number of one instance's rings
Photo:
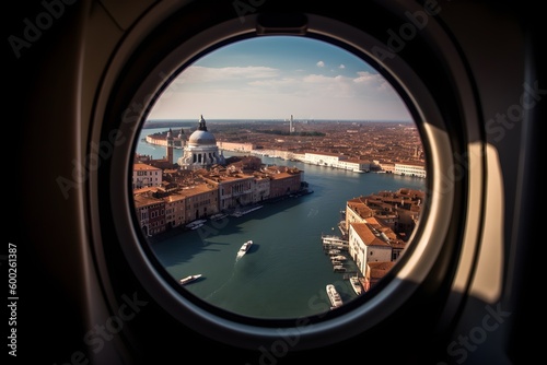
[[[165,79],[129,176],[136,229],[176,290],[265,319],[365,302],[427,199],[400,90],[362,55],[294,36],[234,42]]]

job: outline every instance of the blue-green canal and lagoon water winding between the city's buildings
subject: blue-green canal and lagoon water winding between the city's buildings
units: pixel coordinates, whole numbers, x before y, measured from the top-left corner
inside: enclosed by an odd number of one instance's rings
[[[158,130],[144,129],[150,134]],[[140,154],[160,158],[165,149],[140,142]],[[175,150],[175,160],[182,154]],[[228,157],[235,153],[225,151]],[[424,189],[426,180],[392,174],[358,174],[280,158],[261,157],[270,165],[296,166],[314,192],[264,204],[241,217],[208,221],[195,231],[163,238],[150,245],[159,261],[175,280],[201,273],[187,284],[190,293],[222,309],[257,318],[298,318],[329,310],[325,286],[334,283],[344,302],[356,297],[344,273],[333,264],[322,246],[322,235],[340,235],[337,227],[346,201],[359,196],[399,188]],[[240,260],[236,252],[253,239]],[[348,259],[348,271],[354,264]]]

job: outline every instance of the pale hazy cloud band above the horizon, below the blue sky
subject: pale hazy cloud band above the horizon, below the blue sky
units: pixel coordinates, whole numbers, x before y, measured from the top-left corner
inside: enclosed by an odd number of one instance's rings
[[[314,114],[318,119],[408,119],[391,84],[381,74],[366,71],[348,76],[269,67],[196,66],[186,69],[164,96],[152,118],[207,114],[212,119],[258,119]]]

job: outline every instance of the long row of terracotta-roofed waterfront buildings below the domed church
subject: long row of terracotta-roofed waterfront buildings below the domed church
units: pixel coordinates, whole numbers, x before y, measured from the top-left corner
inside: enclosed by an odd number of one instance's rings
[[[256,165],[256,160],[243,158],[228,168],[172,170],[162,186],[133,189],[141,229],[153,236],[221,211],[301,190],[303,172],[298,168],[270,166],[245,173]]]

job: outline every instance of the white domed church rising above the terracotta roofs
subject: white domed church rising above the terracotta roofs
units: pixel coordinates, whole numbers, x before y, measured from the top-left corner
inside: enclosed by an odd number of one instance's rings
[[[224,165],[225,158],[219,153],[214,136],[207,130],[203,116],[199,118],[198,129],[188,138],[184,154],[178,158],[182,169],[208,168],[214,164]]]

